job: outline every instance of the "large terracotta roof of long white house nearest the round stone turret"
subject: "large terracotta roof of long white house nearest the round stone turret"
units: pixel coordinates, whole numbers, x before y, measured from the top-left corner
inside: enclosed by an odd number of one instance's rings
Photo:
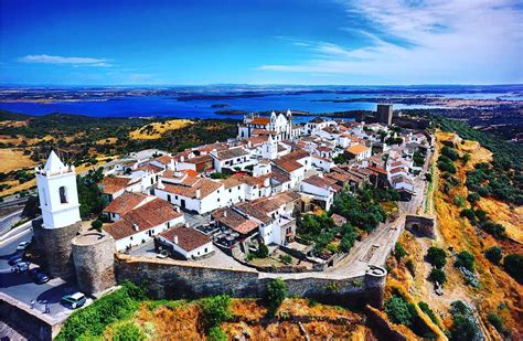
[[[154,199],[124,214],[116,223],[104,226],[104,230],[115,239],[121,239],[137,232],[166,224],[182,215],[183,213],[174,211],[167,201]]]

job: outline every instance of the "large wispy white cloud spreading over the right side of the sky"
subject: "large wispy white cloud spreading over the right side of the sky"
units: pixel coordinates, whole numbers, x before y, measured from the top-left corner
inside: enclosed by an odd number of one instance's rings
[[[369,75],[389,83],[523,82],[523,14],[516,1],[344,1],[348,40],[355,32],[369,44],[302,42],[303,62],[259,68]]]

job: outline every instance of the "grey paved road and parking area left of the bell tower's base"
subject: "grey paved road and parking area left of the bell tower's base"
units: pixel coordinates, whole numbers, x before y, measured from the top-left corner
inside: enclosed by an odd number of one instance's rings
[[[36,311],[43,311],[45,303],[49,303],[51,317],[62,320],[71,315],[72,311],[62,306],[60,299],[63,295],[77,291],[74,284],[71,285],[60,278],[55,278],[46,284],[36,285],[28,274],[11,273],[11,266],[8,264],[9,258],[22,254],[23,252],[17,251],[18,244],[31,238],[32,232],[29,231],[29,233],[19,235],[0,248],[0,290],[28,306],[34,299],[36,301],[34,309]],[[35,265],[31,267],[35,267]]]

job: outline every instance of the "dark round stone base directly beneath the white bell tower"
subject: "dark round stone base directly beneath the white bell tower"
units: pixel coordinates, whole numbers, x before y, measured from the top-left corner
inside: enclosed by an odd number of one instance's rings
[[[64,227],[44,228],[42,220],[33,221],[34,238],[52,277],[75,276],[71,239],[76,236],[79,228],[81,222]]]

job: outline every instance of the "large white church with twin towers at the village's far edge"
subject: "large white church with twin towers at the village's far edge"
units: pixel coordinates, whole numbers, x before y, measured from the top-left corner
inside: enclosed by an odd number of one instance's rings
[[[246,139],[255,136],[273,136],[276,141],[290,140],[300,135],[299,128],[292,127],[292,113],[276,114],[273,111],[269,117],[249,115],[244,118],[244,122],[238,125],[238,139]]]

